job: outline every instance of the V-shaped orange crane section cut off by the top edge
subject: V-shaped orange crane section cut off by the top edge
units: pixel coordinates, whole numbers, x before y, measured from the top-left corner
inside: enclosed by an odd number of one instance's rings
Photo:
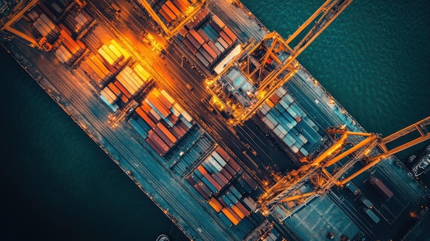
[[[154,9],[151,7],[151,5],[146,0],[138,0],[140,5],[145,8],[145,10],[148,12],[150,17],[163,29],[163,32],[166,34],[167,38],[171,38],[176,34],[185,23],[190,21],[202,8],[205,4],[205,0],[201,1],[192,1],[192,5],[188,8],[186,12],[183,12],[184,18],[181,19],[179,23],[177,23],[174,26],[167,26],[166,23],[164,23],[161,18],[157,15],[157,13],[154,11]]]

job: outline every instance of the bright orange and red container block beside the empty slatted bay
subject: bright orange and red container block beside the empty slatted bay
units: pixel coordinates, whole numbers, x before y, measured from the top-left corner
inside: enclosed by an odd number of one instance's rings
[[[133,126],[161,157],[194,125],[194,120],[163,89],[152,89],[135,109],[144,126]],[[140,121],[140,122],[142,122]]]

